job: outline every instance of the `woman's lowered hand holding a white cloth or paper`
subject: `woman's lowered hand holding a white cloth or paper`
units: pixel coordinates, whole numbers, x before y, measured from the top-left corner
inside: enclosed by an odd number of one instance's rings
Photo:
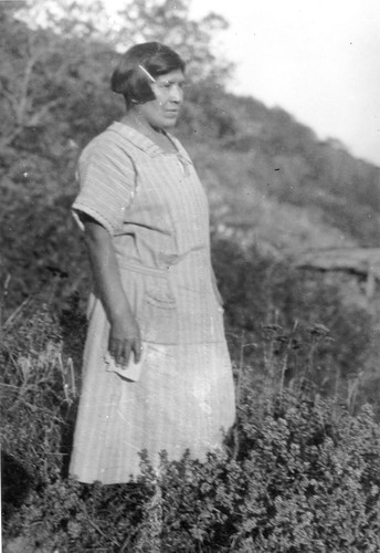
[[[140,361],[140,331],[133,315],[117,317],[112,322],[108,351],[117,365],[127,366],[131,354],[134,354],[135,363]]]

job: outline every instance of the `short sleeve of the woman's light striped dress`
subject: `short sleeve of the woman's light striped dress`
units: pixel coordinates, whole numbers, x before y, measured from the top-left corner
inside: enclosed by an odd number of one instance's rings
[[[73,215],[82,229],[78,212],[88,215],[115,234],[123,229],[126,210],[133,201],[136,171],[123,148],[94,143],[78,160],[76,175],[81,190],[72,206]]]

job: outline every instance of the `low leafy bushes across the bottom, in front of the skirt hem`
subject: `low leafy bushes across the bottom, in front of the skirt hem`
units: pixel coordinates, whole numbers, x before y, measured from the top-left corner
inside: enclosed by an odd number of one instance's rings
[[[170,463],[162,455],[158,479],[144,460],[138,482],[110,487],[57,478],[29,494],[7,533],[24,529],[35,546],[67,552],[157,543],[167,553],[379,551],[380,434],[370,409],[355,419],[284,394],[262,419],[249,413],[245,405],[236,459]]]

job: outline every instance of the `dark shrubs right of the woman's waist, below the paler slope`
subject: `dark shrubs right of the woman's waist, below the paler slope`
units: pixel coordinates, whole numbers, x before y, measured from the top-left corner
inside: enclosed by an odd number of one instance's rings
[[[371,316],[345,303],[339,289],[320,275],[274,262],[256,248],[239,250],[228,240],[214,240],[213,264],[232,354],[239,358],[241,344],[251,344],[244,359],[256,373],[262,372],[265,358],[279,372],[285,362],[287,383],[303,367],[313,374],[320,393],[339,395],[344,389],[346,395],[347,383],[359,379],[366,366],[377,363]],[[310,358],[319,340],[318,327],[326,328],[327,340]]]

